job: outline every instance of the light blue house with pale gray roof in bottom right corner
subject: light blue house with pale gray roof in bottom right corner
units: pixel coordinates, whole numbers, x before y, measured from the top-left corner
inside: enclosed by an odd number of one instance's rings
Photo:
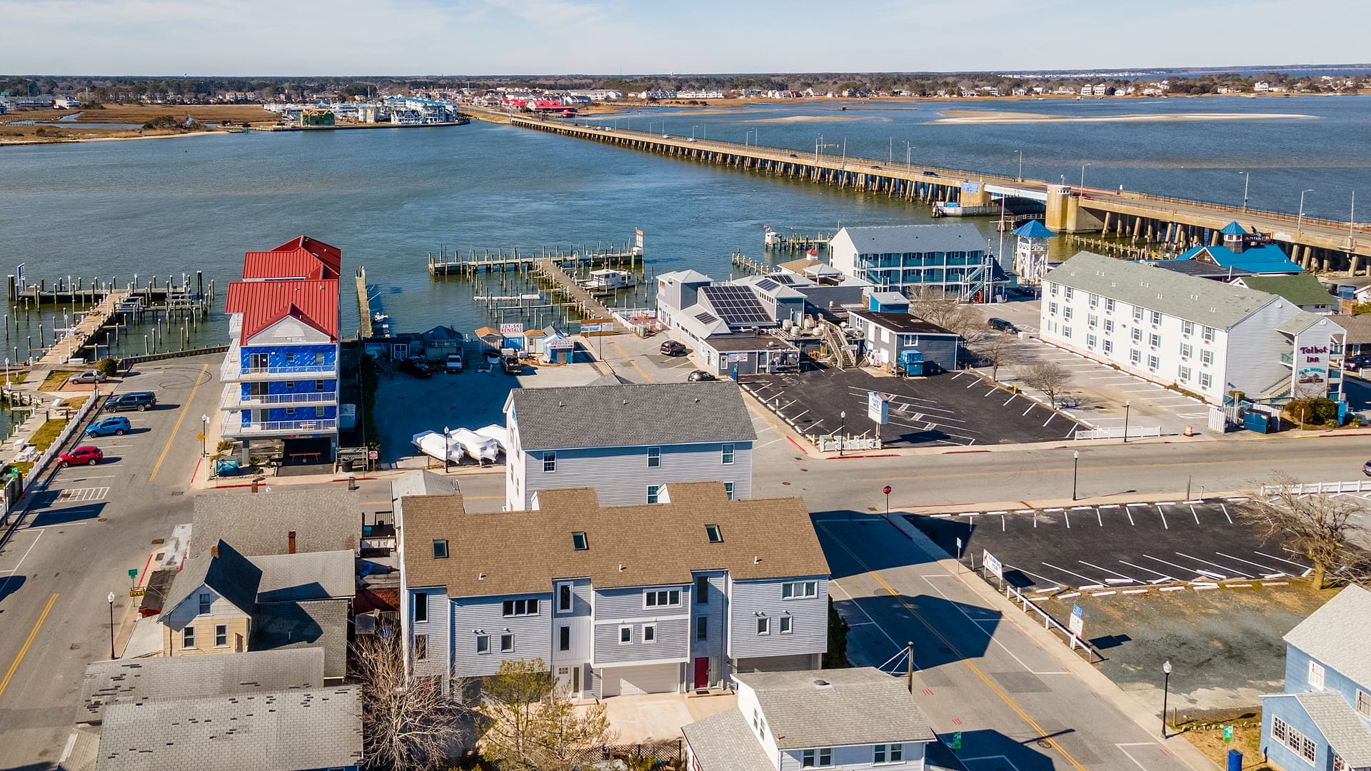
[[[1286,641],[1286,690],[1261,697],[1261,749],[1287,771],[1371,768],[1371,591],[1349,586]]]

